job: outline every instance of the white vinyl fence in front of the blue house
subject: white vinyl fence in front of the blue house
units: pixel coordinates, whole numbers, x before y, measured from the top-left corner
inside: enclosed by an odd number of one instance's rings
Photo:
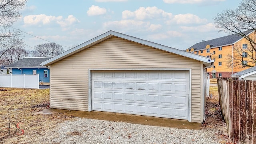
[[[0,87],[39,89],[39,74],[0,74]]]

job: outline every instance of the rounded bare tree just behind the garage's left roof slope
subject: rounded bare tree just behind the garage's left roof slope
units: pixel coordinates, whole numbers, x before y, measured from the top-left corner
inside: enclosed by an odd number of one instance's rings
[[[57,56],[64,52],[62,46],[55,42],[38,44],[35,46],[35,50],[30,52],[30,55],[33,57]]]

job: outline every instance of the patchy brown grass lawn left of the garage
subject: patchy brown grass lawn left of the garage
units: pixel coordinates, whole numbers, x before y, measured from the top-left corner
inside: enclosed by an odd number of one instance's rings
[[[4,89],[7,91],[0,91],[0,144],[27,143],[26,140],[55,128],[57,123],[71,119],[64,115],[34,114],[49,108],[49,89]],[[33,108],[38,105],[44,107]]]

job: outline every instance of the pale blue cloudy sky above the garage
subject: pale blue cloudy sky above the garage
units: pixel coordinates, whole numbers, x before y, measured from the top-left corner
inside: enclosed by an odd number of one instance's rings
[[[109,30],[184,50],[202,40],[228,35],[218,32],[213,17],[223,10],[235,9],[240,2],[28,0],[13,27],[24,32],[27,50],[48,41],[67,50]]]

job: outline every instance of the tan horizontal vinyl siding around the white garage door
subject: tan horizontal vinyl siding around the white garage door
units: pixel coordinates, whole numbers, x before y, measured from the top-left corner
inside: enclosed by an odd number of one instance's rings
[[[192,122],[202,122],[202,63],[117,37],[51,65],[51,107],[88,110],[88,69],[192,68]]]

